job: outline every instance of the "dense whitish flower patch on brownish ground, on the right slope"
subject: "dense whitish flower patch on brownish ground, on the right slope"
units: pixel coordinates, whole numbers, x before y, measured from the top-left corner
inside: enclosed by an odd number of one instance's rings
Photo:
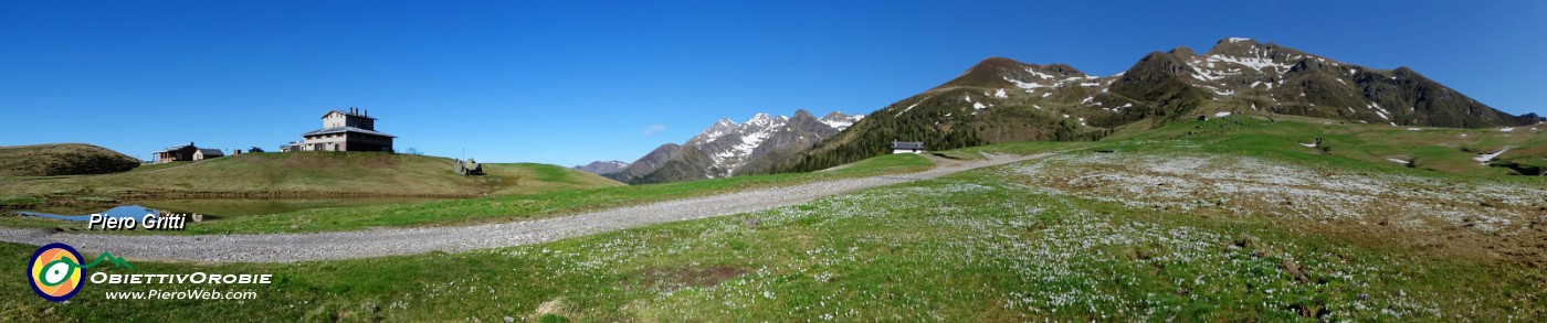
[[[1541,185],[1326,170],[1239,156],[1074,153],[1009,175],[1052,193],[1139,209],[1225,209],[1406,230],[1450,224],[1504,236],[1547,223],[1541,210],[1547,187]]]

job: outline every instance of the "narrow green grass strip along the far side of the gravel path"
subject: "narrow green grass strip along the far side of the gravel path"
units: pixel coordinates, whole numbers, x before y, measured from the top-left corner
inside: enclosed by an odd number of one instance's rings
[[[520,165],[511,165],[520,167]],[[746,189],[797,185],[812,181],[877,176],[891,173],[924,172],[934,167],[928,159],[917,155],[886,155],[854,162],[842,170],[821,173],[783,173],[733,176],[702,181],[685,181],[670,184],[644,185],[608,185],[589,190],[546,190],[535,193],[483,196],[466,199],[447,199],[430,202],[405,202],[384,206],[328,207],[274,215],[232,216],[220,221],[189,224],[181,232],[93,232],[93,233],[266,233],[266,232],[323,232],[323,230],[359,230],[368,227],[394,226],[446,226],[470,224],[489,221],[535,219],[546,216],[569,215],[586,210],[623,207],[640,202],[681,199],[702,195],[729,193]],[[486,168],[487,170],[487,168]],[[549,175],[572,173],[557,165],[541,165]],[[541,173],[541,172],[535,172]],[[588,173],[589,175],[589,173]],[[594,175],[593,175],[594,176]],[[535,176],[543,179],[543,176]],[[575,179],[575,176],[566,176]],[[563,182],[566,179],[549,178],[546,182]],[[523,179],[523,182],[528,182]],[[0,226],[8,227],[79,227],[79,223],[63,223],[54,219],[39,219],[29,216],[5,218]]]

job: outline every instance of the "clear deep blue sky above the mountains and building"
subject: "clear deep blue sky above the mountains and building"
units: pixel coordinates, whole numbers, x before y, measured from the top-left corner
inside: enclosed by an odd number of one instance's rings
[[[721,117],[869,113],[992,56],[1115,74],[1250,37],[1547,114],[1544,2],[0,2],[0,145],[633,161]]]

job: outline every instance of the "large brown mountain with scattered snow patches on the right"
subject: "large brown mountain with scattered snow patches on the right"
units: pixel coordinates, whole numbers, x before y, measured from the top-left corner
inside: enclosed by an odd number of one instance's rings
[[[893,141],[930,150],[1013,141],[1089,141],[1197,116],[1295,114],[1392,127],[1513,127],[1542,122],[1484,105],[1406,66],[1377,70],[1252,39],[1204,54],[1149,53],[1112,76],[1063,63],[990,57],[897,100],[777,172],[811,172],[882,155]]]

